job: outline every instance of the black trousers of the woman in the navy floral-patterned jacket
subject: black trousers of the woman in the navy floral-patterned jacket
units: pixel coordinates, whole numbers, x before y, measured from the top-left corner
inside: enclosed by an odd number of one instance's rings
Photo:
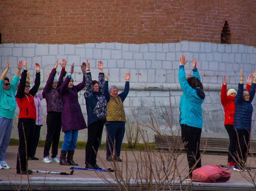
[[[85,147],[85,164],[96,164],[98,147],[105,121],[95,121],[88,125],[88,139]]]

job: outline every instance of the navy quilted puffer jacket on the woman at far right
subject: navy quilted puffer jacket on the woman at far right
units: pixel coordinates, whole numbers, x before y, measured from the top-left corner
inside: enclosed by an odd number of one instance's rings
[[[245,101],[244,95],[244,84],[238,84],[238,91],[235,97],[235,114],[234,114],[234,129],[251,131],[252,126],[252,115],[253,106],[252,101],[255,95],[256,84],[252,83],[250,88],[250,99]]]

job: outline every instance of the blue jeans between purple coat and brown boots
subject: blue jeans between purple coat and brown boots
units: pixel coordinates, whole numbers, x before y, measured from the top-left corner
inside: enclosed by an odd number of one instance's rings
[[[77,142],[78,130],[64,131],[65,136],[61,147],[62,151],[74,151],[75,143]]]

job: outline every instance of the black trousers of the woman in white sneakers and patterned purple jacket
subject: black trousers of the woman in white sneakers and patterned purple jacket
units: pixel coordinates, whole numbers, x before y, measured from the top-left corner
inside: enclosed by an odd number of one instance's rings
[[[49,155],[51,147],[51,158],[58,154],[58,145],[61,131],[61,112],[49,112],[46,117],[47,134],[44,147],[44,157]]]

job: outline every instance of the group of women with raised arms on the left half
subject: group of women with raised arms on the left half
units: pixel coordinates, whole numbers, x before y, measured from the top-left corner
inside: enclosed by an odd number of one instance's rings
[[[47,76],[47,82],[42,92],[38,93],[40,86],[40,65],[35,64],[35,83],[30,88],[29,76],[27,72],[27,60],[24,63],[20,60],[17,64],[16,72],[12,82],[6,77],[10,69],[9,60],[7,68],[1,75],[0,87],[0,169],[9,169],[10,166],[4,161],[5,152],[9,145],[16,103],[20,109],[18,120],[19,151],[17,155],[16,173],[33,174],[28,169],[28,160],[39,160],[35,157],[36,147],[40,136],[40,128],[43,125],[41,100],[46,99],[47,107],[47,135],[44,146],[43,162],[59,163],[60,165],[78,164],[73,161],[74,150],[80,129],[88,128],[88,141],[85,149],[85,168],[102,169],[96,164],[98,147],[100,145],[103,126],[107,129],[107,161],[119,161],[121,144],[125,133],[125,111],[123,101],[129,93],[130,74],[126,73],[125,90],[118,94],[116,86],[108,88],[108,77],[103,73],[103,62],[98,62],[100,70],[98,81],[92,80],[90,63],[83,62],[81,70],[83,80],[78,85],[74,85],[72,74],[74,63],[70,72],[66,76],[66,60],[62,63],[56,61],[55,67]],[[55,75],[58,65],[62,69],[57,80]],[[24,67],[21,73],[22,67]],[[20,78],[21,73],[21,78]],[[18,85],[18,90],[16,88]],[[80,104],[78,102],[78,92],[85,88],[84,97],[86,100],[86,110],[88,122],[86,125]],[[64,132],[64,140],[61,147],[60,158],[58,158],[58,144],[60,131]],[[51,159],[49,150],[52,145]],[[114,150],[115,145],[115,150]],[[113,156],[113,158],[112,158]]]

